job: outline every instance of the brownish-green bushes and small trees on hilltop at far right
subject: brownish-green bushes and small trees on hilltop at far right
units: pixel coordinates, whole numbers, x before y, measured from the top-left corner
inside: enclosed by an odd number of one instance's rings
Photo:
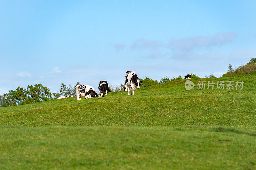
[[[227,73],[222,77],[240,77],[256,75],[256,58],[251,58],[249,63],[233,68],[231,64],[228,65]]]

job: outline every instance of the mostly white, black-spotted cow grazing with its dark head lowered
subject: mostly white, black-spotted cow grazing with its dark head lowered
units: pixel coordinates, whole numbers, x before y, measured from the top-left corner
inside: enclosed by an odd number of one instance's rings
[[[92,97],[100,97],[98,96],[98,94],[92,86],[81,84],[78,84],[76,86],[76,96],[77,100],[81,100],[81,97],[85,97],[85,99]]]

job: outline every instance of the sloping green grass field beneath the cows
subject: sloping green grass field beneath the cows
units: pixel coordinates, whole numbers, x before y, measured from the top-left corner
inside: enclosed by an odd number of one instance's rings
[[[256,169],[256,76],[200,80],[0,108],[0,169]]]

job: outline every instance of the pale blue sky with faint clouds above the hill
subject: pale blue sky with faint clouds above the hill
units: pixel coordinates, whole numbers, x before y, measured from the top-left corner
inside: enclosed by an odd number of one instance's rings
[[[0,95],[41,83],[160,80],[256,57],[256,1],[0,1]]]

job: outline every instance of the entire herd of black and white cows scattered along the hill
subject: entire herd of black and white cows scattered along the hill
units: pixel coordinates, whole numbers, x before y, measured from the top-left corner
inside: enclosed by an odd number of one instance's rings
[[[185,76],[185,79],[191,79],[191,75],[187,74]],[[132,95],[134,95],[135,88],[137,87],[138,89],[140,89],[140,83],[142,83],[142,81],[140,81],[135,71],[126,72],[124,90],[127,91],[128,89],[128,95],[130,95],[130,88],[132,88]],[[104,97],[105,94],[107,97],[108,92],[110,92],[107,81],[100,81],[98,89],[100,90],[100,95],[96,93],[95,89],[92,86],[78,84],[76,86],[77,100],[81,100],[81,97],[85,97],[85,99],[92,98],[92,97]],[[73,97],[73,96],[61,96],[58,99],[66,98],[66,97]]]

